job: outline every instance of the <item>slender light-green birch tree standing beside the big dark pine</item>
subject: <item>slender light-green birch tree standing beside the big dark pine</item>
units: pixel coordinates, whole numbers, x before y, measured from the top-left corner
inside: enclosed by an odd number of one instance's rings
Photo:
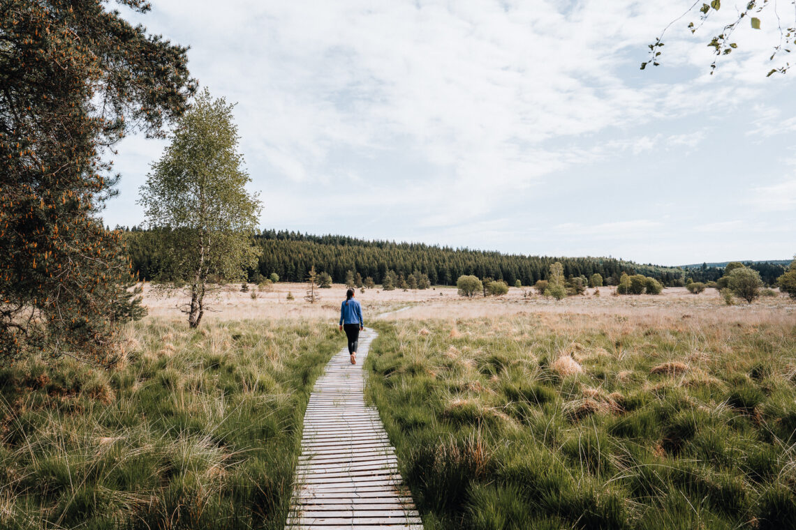
[[[140,190],[146,224],[161,233],[161,279],[187,284],[189,301],[178,307],[190,327],[199,326],[205,296],[217,287],[210,277],[240,281],[256,265],[252,234],[260,202],[245,189],[251,179],[238,153],[233,107],[202,91]]]

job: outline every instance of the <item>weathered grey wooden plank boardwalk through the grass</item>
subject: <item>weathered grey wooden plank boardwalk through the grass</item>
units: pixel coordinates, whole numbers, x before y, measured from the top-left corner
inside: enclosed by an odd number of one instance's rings
[[[356,365],[344,347],[315,382],[288,530],[423,528],[379,413],[365,406],[362,366],[376,335],[370,329],[360,334]]]

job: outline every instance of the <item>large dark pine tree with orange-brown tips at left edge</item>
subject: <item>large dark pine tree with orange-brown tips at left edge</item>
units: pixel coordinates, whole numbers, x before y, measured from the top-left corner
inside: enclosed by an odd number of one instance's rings
[[[162,134],[195,83],[187,48],[106,4],[0,7],[0,362],[111,362],[117,324],[137,312],[121,234],[98,218],[118,179],[107,155],[131,131]]]

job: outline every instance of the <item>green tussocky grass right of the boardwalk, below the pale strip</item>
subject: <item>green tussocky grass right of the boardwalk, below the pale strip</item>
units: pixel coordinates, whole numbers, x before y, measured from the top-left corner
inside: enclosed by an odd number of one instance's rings
[[[375,401],[425,528],[794,528],[796,319],[377,323]]]

